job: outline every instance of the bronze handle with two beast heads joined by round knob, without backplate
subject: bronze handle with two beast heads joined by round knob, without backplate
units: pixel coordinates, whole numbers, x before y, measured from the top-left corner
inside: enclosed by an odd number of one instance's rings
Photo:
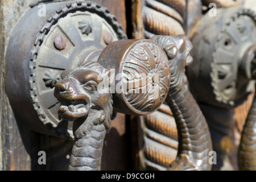
[[[97,63],[87,61],[64,71],[63,80],[55,85],[55,97],[62,104],[60,115],[74,121],[76,142],[69,169],[100,169],[112,109],[125,114],[150,114],[165,98],[179,133],[179,151],[170,170],[210,169],[208,125],[188,90],[184,73],[185,65],[192,62],[191,48],[184,35],[119,40],[101,52]]]

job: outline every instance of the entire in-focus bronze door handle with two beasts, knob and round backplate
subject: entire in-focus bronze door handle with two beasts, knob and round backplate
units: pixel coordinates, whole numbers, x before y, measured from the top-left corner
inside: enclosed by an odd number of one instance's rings
[[[100,169],[113,109],[145,115],[164,100],[179,133],[170,169],[210,169],[208,126],[184,74],[192,61],[185,36],[122,40],[127,36],[117,18],[87,1],[48,3],[46,10],[40,17],[32,8],[14,29],[6,52],[7,93],[32,130],[75,138],[69,169]]]

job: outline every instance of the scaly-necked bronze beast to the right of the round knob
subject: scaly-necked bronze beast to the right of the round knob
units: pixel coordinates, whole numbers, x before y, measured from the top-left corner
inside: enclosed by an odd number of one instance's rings
[[[184,68],[192,63],[192,44],[185,36],[159,36],[151,40],[166,51],[171,67],[171,85],[166,98],[177,125],[179,147],[170,170],[210,170],[208,163],[212,142],[207,122],[189,92]]]

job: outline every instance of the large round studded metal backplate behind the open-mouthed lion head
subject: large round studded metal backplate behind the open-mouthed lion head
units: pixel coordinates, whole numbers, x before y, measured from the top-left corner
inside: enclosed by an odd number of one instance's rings
[[[92,2],[46,3],[33,7],[14,28],[6,52],[6,87],[20,121],[34,131],[73,138],[72,123],[57,114],[54,86],[65,69],[97,61],[109,43],[126,39],[121,24]]]

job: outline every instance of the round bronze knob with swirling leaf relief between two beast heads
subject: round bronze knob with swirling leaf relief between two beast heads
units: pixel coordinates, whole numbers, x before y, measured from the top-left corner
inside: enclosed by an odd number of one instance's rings
[[[102,51],[98,63],[115,69],[111,85],[115,111],[146,115],[163,104],[171,73],[167,55],[159,44],[146,39],[119,40]]]

